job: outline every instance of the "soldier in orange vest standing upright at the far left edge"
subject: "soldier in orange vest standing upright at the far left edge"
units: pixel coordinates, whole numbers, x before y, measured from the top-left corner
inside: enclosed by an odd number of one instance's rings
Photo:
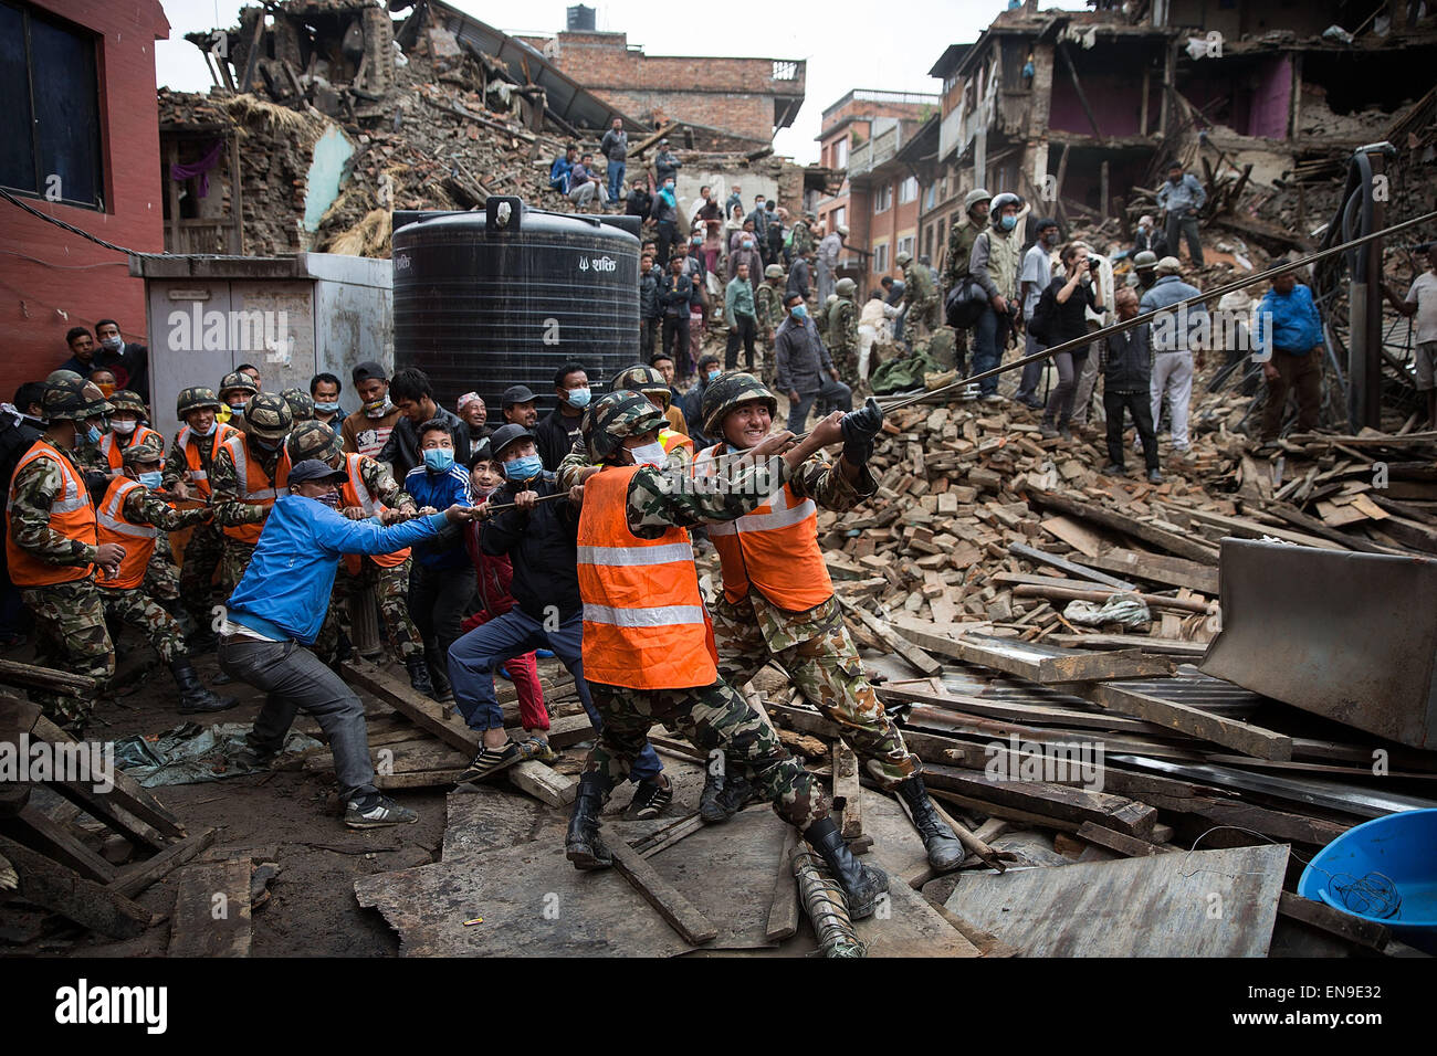
[[[16,466],[6,504],[6,560],[10,580],[34,616],[34,659],[43,667],[89,675],[102,693],[115,677],[115,648],[95,568],[114,575],[122,547],[101,545],[95,506],[75,460],[82,438],[96,443],[111,409],[86,381],[47,384],[40,401],[45,435]],[[30,690],[30,698],[60,727],[78,730],[93,700]]]

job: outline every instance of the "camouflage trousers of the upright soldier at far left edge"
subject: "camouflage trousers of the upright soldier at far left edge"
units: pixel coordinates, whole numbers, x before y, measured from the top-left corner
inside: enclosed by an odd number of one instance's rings
[[[30,586],[20,596],[34,616],[34,662],[40,667],[89,675],[102,693],[115,677],[115,647],[105,628],[105,605],[93,579],[55,586]],[[56,726],[79,728],[95,707],[93,700],[30,690]]]

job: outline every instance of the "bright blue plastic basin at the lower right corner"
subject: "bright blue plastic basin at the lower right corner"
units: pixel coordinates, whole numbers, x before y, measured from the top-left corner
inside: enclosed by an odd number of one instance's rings
[[[1391,917],[1354,912],[1332,888],[1334,879],[1351,884],[1374,872],[1387,876],[1401,898]],[[1404,942],[1437,954],[1437,810],[1404,810],[1348,829],[1302,871],[1298,894],[1385,924]]]

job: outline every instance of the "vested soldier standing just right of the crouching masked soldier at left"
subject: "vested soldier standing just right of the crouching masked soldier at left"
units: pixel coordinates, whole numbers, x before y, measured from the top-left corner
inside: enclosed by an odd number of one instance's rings
[[[175,399],[175,417],[184,425],[170,445],[161,487],[178,500],[210,500],[210,474],[214,451],[237,432],[216,421],[220,401],[213,389],[194,386],[181,389]],[[214,570],[224,555],[220,530],[211,523],[197,524],[184,547],[184,569],[180,572],[180,599],[195,624],[190,636],[190,651],[213,649],[217,638],[211,629],[210,601],[214,592]]]

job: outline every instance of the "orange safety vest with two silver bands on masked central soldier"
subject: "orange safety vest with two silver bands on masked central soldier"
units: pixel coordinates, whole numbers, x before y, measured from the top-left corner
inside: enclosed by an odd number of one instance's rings
[[[688,532],[639,539],[628,527],[637,466],[589,477],[579,514],[583,677],[632,690],[713,685],[718,652]]]

